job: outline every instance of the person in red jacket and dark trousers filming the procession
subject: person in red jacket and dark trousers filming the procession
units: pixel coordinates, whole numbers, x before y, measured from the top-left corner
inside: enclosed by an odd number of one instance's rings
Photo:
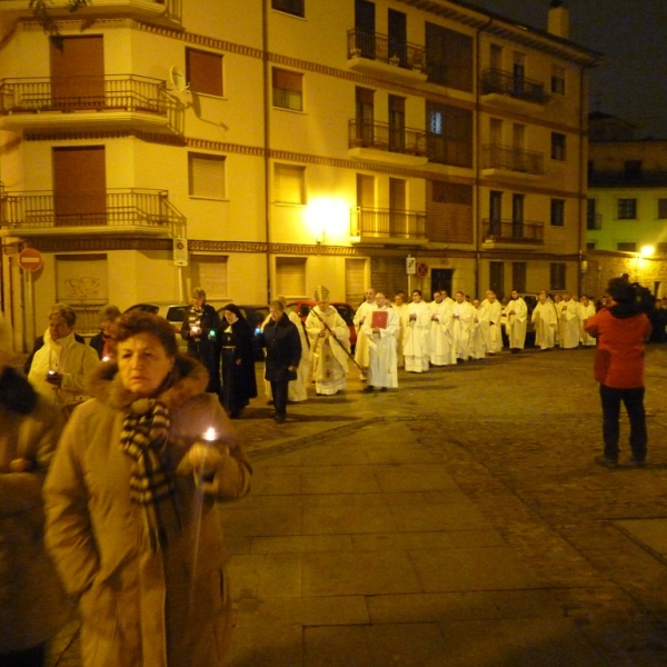
[[[644,341],[650,335],[650,322],[646,316],[650,296],[648,290],[630,285],[625,278],[613,278],[607,287],[607,306],[586,320],[584,326],[598,341],[595,379],[600,384],[605,454],[596,457],[596,462],[608,468],[618,465],[618,420],[623,401],[630,420],[633,458],[629,465],[643,466],[647,442]]]

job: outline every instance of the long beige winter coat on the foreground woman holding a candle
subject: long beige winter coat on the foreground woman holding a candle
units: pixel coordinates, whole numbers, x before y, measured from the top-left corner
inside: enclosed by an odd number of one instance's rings
[[[44,485],[47,547],[67,590],[79,597],[84,667],[215,667],[229,639],[229,589],[216,500],[245,496],[250,466],[208,371],[178,357],[181,375],[160,399],[171,412],[163,459],[177,481],[181,530],[148,551],[142,508],[130,501],[131,459],[121,450],[127,406],[115,364],[90,382],[94,398],[69,420]],[[185,456],[209,427],[230,446],[206,492]],[[219,445],[221,449],[223,445]]]

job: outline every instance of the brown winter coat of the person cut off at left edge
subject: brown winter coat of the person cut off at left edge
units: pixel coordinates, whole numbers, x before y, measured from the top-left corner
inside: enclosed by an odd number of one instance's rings
[[[43,546],[42,482],[62,429],[60,414],[13,368],[0,368],[0,395],[2,655],[46,643],[70,608]],[[26,399],[31,409],[23,408]],[[12,470],[19,459],[29,461],[26,471]]]

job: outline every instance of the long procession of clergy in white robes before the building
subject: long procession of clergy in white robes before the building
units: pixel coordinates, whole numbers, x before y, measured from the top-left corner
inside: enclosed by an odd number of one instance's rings
[[[491,290],[486,292],[486,299],[471,301],[462,291],[452,299],[446,291],[437,290],[434,300],[427,303],[417,289],[411,292],[410,303],[405,302],[404,292],[397,293],[391,303],[382,292],[369,288],[354,319],[357,344],[352,356],[349,329],[329,303],[329,291],[320,286],[315,296],[317,306],[311,309],[305,328],[311,340],[311,372],[320,396],[345,389],[349,359],[367,381],[365,392],[387,391],[398,387],[399,368],[426,372],[431,366],[481,360],[499,354],[504,346],[502,328],[510,352],[520,352],[526,344],[528,306],[517,290],[511,291],[506,305]],[[530,315],[536,347],[549,350],[556,346],[561,349],[595,346],[595,339],[584,330],[584,322],[595,312],[595,305],[586,296],[577,301],[568,293],[551,299],[546,291],[540,292]]]

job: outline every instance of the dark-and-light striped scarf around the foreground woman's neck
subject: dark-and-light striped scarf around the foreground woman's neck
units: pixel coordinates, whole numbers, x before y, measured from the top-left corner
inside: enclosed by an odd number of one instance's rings
[[[142,506],[148,549],[157,551],[180,528],[176,486],[162,460],[169,440],[169,410],[155,399],[137,400],[130,410],[120,435],[120,446],[133,461],[130,499]]]

